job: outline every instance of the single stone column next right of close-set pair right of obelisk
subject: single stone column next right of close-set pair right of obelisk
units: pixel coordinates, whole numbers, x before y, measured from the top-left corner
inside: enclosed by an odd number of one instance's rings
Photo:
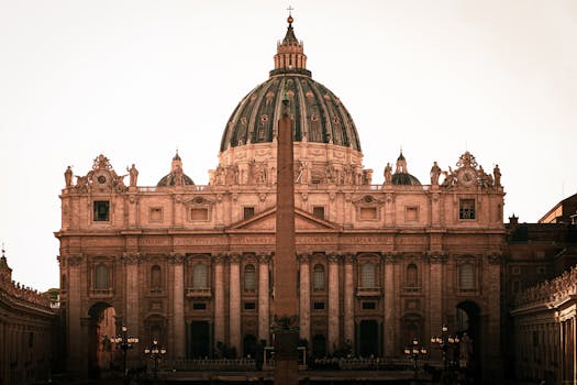
[[[385,283],[382,287],[385,289],[385,355],[395,356],[399,354],[399,352],[395,349],[395,334],[397,329],[395,322],[395,315],[397,312],[395,307],[395,296],[397,283],[395,282],[395,254],[392,253],[385,255]],[[397,337],[397,339],[399,339],[399,337]]]

